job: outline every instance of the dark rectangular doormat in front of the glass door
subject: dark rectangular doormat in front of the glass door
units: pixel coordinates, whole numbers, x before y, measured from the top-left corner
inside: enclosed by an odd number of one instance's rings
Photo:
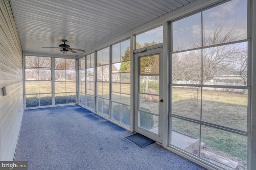
[[[136,133],[134,135],[130,135],[128,137],[125,137],[126,139],[128,139],[129,141],[135,143],[136,145],[138,145],[139,147],[143,148],[146,147],[152,143],[155,143],[155,141],[148,139],[147,137],[140,135],[139,133]]]

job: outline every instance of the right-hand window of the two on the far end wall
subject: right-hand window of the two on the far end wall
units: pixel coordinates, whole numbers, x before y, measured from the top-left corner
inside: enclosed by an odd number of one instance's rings
[[[76,60],[55,58],[55,104],[76,103]]]

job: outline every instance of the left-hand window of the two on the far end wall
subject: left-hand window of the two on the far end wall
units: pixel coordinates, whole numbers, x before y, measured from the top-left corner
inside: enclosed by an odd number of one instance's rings
[[[50,57],[25,57],[26,108],[52,105]]]

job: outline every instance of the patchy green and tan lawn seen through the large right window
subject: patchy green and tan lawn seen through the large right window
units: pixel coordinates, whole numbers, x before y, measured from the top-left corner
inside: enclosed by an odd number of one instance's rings
[[[201,92],[197,89],[172,89],[172,113],[200,120]],[[246,131],[247,94],[204,90],[202,121]],[[199,138],[200,124],[172,118],[172,129]],[[201,142],[205,150],[230,158],[246,167],[247,137],[202,125]],[[242,168],[243,169],[243,168]]]

